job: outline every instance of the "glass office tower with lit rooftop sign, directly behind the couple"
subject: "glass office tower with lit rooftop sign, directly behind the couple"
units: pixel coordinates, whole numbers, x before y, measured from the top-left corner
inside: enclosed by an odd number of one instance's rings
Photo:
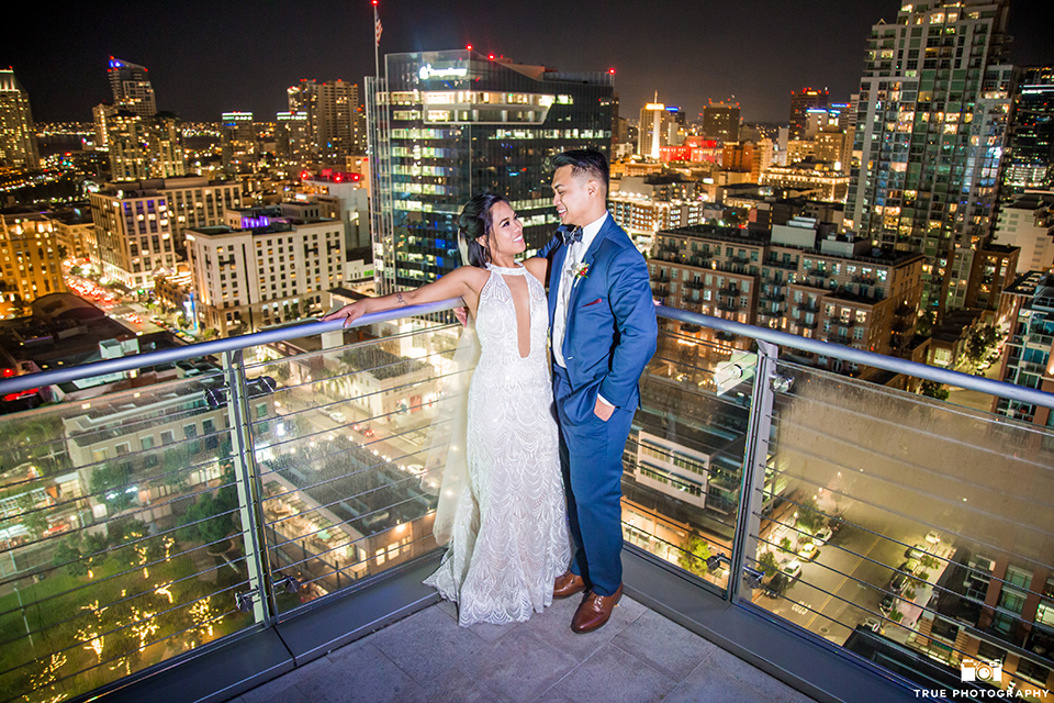
[[[457,268],[458,214],[475,193],[505,196],[528,253],[557,227],[549,158],[610,153],[614,77],[570,74],[469,49],[390,54],[367,79],[373,254],[384,292]]]

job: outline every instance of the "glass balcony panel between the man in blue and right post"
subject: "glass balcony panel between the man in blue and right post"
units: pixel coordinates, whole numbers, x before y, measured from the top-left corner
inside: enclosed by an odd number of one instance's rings
[[[727,561],[708,566],[707,558],[732,553],[753,355],[741,350],[749,339],[680,330],[660,334],[641,378],[641,408],[624,455],[624,536],[725,590]],[[715,369],[733,358],[750,371],[718,394]]]

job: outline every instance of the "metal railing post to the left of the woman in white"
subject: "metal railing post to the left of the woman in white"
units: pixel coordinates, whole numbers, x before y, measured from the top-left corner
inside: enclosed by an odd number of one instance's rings
[[[253,446],[249,394],[245,382],[245,364],[242,349],[224,352],[223,370],[227,381],[227,412],[231,419],[232,454],[235,482],[238,489],[238,507],[242,532],[245,539],[245,565],[248,570],[249,593],[244,594],[238,606],[251,603],[257,623],[273,623],[278,609],[274,590],[268,578],[267,542],[264,536],[264,502],[260,495],[259,470]]]

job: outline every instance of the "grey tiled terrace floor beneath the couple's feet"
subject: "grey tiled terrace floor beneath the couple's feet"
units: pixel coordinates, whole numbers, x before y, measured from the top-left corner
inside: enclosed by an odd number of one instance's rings
[[[231,703],[812,700],[628,596],[606,626],[576,635],[578,602],[526,623],[459,627],[442,601]]]

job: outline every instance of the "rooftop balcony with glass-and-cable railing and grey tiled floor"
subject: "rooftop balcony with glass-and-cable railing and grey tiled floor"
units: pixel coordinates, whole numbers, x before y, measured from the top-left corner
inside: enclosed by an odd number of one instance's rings
[[[651,688],[632,700],[800,700],[786,683],[817,700],[908,701],[974,685],[960,662],[980,646],[1002,652],[1002,688],[1042,687],[1049,652],[989,626],[998,614],[1017,632],[1034,614],[987,603],[995,589],[1045,591],[1054,434],[792,359],[1028,406],[1054,397],[660,313],[716,339],[663,333],[641,378],[624,455],[628,600],[584,637],[568,635],[565,603],[504,631],[457,628],[421,585],[438,558],[426,428],[456,326],[407,323],[344,346],[338,323],[309,323],[0,380],[7,395],[197,365],[3,417],[0,700],[248,703],[352,688],[419,700],[442,685],[487,700],[636,685]],[[318,352],[270,349],[319,333]],[[646,464],[713,491],[655,481]],[[966,585],[978,558],[994,565],[984,592]],[[912,563],[910,585],[892,588]],[[437,640],[452,667],[426,656]]]

